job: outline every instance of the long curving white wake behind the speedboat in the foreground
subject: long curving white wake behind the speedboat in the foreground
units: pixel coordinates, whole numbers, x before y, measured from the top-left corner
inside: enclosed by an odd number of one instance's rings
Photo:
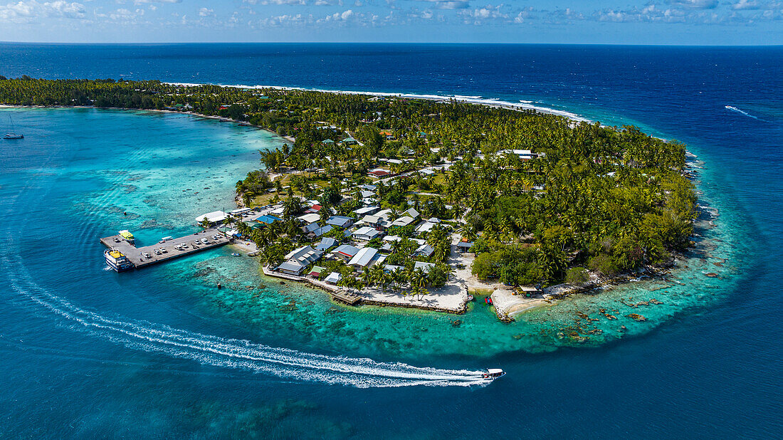
[[[74,330],[87,331],[129,348],[159,352],[205,365],[266,373],[293,380],[341,384],[357,388],[421,386],[485,386],[482,371],[443,370],[401,362],[317,355],[274,348],[251,341],[175,329],[144,321],[110,319],[79,308],[38,286],[20,261],[2,258],[11,287],[22,299],[63,318]]]

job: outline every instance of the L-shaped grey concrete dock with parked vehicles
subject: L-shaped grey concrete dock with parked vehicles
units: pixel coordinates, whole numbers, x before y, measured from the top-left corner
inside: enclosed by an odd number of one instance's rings
[[[212,236],[220,236],[217,240],[213,240]],[[201,243],[201,239],[207,239],[209,244]],[[198,244],[195,242],[198,241]],[[150,246],[135,247],[127,240],[124,240],[121,236],[107,236],[100,239],[103,246],[117,249],[128,257],[136,269],[143,268],[148,265],[154,265],[163,261],[168,261],[173,258],[184,257],[185,255],[195,254],[200,251],[206,251],[213,247],[223,246],[229,243],[229,238],[222,233],[218,233],[217,229],[207,229],[198,233],[193,233],[187,236],[181,236],[179,238],[164,241],[163,243],[155,243]],[[187,244],[188,247],[179,251],[175,249],[175,246],[179,244]],[[160,255],[155,253],[156,249],[163,248],[166,252]],[[146,258],[144,253],[150,254],[150,258]]]

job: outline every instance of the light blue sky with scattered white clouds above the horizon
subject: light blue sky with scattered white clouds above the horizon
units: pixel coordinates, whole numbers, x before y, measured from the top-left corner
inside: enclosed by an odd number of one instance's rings
[[[0,0],[0,41],[783,44],[783,0]]]

